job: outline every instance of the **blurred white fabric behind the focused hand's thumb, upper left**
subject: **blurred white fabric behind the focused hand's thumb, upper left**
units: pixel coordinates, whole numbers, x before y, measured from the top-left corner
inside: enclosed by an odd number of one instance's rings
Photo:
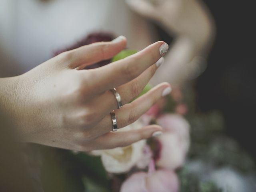
[[[141,49],[151,29],[124,0],[1,0],[0,77],[22,74],[90,32],[114,32]]]

